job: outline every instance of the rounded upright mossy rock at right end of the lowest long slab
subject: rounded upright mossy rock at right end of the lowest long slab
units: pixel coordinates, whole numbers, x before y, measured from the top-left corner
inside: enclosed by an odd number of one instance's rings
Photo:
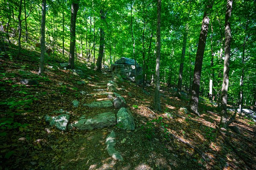
[[[121,108],[116,114],[117,127],[124,130],[134,130],[134,118],[129,110]]]

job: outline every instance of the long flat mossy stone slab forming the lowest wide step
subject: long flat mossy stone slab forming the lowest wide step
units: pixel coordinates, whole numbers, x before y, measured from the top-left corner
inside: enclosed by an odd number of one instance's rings
[[[80,118],[79,121],[70,124],[71,127],[79,130],[93,130],[113,125],[116,125],[116,115],[112,112],[100,113],[92,119]]]

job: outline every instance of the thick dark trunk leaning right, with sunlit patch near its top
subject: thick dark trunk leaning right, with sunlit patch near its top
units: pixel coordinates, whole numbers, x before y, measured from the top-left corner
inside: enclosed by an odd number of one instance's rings
[[[200,91],[200,79],[201,79],[201,71],[202,71],[202,64],[204,58],[204,49],[207,39],[208,33],[208,26],[209,26],[209,9],[212,6],[207,6],[204,11],[203,23],[201,27],[201,33],[198,42],[198,49],[195,58],[195,68],[194,68],[194,77],[193,77],[193,84],[192,84],[192,94],[191,99],[189,102],[189,110],[192,113],[197,114],[200,116],[198,112],[198,100],[199,100],[199,91]]]

